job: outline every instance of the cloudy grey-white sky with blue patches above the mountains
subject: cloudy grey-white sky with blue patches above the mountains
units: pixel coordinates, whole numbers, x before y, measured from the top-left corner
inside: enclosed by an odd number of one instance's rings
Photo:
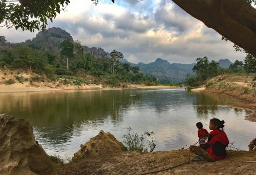
[[[210,60],[243,60],[233,43],[206,27],[179,8],[172,0],[72,0],[49,27],[66,30],[74,40],[107,52],[120,51],[133,63],[162,58],[170,63],[192,63],[207,56]],[[8,42],[23,42],[38,31],[0,28]]]

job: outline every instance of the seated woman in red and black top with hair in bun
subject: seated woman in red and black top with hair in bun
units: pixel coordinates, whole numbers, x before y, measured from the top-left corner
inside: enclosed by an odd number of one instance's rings
[[[224,120],[217,118],[210,119],[208,142],[198,146],[190,146],[190,150],[208,161],[223,160],[226,158],[226,146],[229,141],[223,131]]]

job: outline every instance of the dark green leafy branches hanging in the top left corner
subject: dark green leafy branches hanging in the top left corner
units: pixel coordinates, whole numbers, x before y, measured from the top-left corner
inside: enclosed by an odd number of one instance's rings
[[[45,30],[69,0],[0,0],[0,23],[7,28]]]

